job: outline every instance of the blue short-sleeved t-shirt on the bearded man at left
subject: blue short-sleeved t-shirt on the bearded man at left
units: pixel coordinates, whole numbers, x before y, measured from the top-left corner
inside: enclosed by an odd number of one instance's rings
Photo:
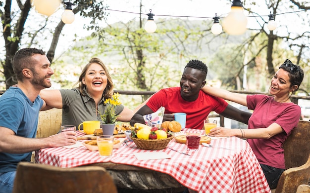
[[[10,87],[0,96],[0,126],[13,130],[17,136],[35,138],[42,105],[39,95],[31,102],[20,88]],[[20,161],[31,160],[31,154],[0,153],[0,173],[16,171]]]

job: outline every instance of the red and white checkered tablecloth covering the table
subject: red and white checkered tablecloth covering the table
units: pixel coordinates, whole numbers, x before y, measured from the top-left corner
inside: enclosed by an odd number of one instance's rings
[[[78,135],[81,135],[79,131]],[[213,139],[214,147],[200,146],[191,155],[169,149],[138,149],[133,142],[113,150],[113,156],[102,158],[85,147],[46,148],[36,152],[36,161],[59,167],[76,167],[98,162],[134,165],[166,173],[182,185],[199,193],[270,193],[269,186],[250,145],[237,137]],[[225,150],[216,146],[227,147]],[[172,140],[169,148],[186,152],[186,145]],[[133,153],[165,152],[170,159],[138,160]]]

